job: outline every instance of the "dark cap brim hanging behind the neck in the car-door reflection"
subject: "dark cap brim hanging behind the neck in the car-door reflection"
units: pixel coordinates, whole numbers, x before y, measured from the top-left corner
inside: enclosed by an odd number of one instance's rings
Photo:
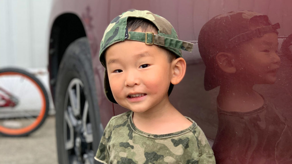
[[[204,88],[206,91],[218,87],[218,78],[216,78],[216,73],[214,68],[206,67],[204,75]]]

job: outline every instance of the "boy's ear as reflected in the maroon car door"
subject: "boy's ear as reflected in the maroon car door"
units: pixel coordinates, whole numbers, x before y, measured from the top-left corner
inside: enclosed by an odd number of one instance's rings
[[[216,63],[226,73],[232,74],[236,72],[234,55],[231,53],[218,53],[216,55]]]

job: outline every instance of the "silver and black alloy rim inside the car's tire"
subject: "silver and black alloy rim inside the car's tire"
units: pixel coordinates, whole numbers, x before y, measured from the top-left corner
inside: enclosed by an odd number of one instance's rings
[[[79,78],[70,81],[64,103],[64,143],[69,163],[93,163],[93,133],[89,104]]]

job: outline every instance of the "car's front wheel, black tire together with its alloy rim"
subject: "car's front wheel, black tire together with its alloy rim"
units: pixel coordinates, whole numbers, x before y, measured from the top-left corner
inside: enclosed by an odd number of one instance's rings
[[[74,107],[78,100],[80,109]],[[97,163],[94,156],[103,130],[86,37],[71,43],[65,51],[57,76],[55,108],[59,163]]]

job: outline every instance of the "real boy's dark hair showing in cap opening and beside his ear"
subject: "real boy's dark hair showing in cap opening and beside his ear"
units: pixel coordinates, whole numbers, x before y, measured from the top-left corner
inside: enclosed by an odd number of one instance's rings
[[[154,23],[150,22],[147,19],[143,18],[135,18],[135,17],[129,17],[127,20],[127,28],[128,31],[134,31],[135,29],[140,28],[141,32],[154,32],[157,33],[158,29],[154,25]],[[173,54],[171,51],[166,50],[163,48],[163,50],[167,54],[168,62],[172,62],[174,59],[176,59],[178,56]]]

